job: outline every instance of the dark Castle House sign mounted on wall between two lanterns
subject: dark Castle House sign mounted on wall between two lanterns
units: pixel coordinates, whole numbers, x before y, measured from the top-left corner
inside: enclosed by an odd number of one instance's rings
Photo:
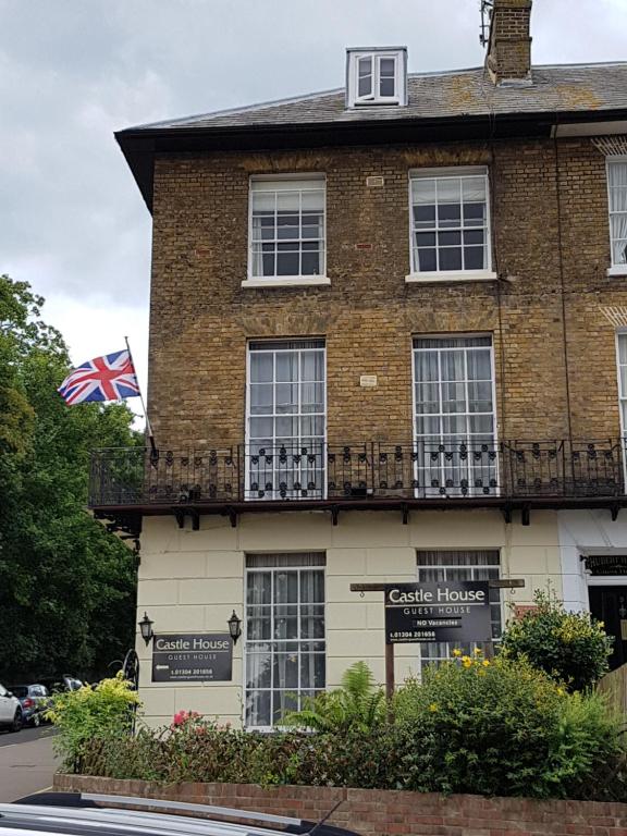
[[[233,640],[228,632],[162,632],[152,644],[153,683],[229,683]]]

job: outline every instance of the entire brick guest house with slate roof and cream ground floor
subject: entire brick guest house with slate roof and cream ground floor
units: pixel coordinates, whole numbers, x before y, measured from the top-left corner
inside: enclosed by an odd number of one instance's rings
[[[138,640],[151,723],[382,680],[353,582],[522,578],[495,638],[551,586],[624,661],[627,64],[531,66],[530,11],[495,0],[484,67],[349,49],[342,89],[118,134],[158,453],[96,453],[90,506],[139,539],[157,635],[243,619],[224,681],[151,681]],[[448,652],[399,646],[396,678]]]

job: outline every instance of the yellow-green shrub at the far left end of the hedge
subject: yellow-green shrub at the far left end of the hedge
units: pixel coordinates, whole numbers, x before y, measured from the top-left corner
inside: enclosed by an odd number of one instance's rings
[[[127,735],[133,726],[133,711],[139,704],[133,684],[121,673],[95,686],[84,685],[77,691],[53,694],[47,718],[59,729],[54,746],[63,758],[63,766],[79,766],[93,738]]]

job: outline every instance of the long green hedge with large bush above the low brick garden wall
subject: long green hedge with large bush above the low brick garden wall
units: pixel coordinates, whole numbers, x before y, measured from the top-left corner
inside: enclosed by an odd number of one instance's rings
[[[323,703],[318,706],[322,710]],[[525,660],[480,656],[407,680],[392,712],[315,734],[247,733],[177,715],[159,732],[99,735],[84,774],[162,783],[408,789],[627,801],[622,720]]]

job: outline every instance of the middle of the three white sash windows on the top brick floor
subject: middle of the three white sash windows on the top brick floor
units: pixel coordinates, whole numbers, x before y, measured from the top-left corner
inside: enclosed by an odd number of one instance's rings
[[[410,194],[414,273],[491,270],[484,168],[415,172]]]

